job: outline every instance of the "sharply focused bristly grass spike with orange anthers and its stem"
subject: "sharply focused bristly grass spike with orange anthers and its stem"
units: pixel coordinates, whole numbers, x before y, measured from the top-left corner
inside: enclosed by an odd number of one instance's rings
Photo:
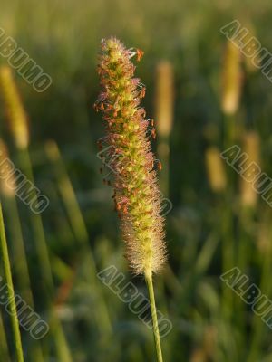
[[[157,357],[162,361],[160,336],[152,285],[152,273],[160,271],[166,260],[163,218],[160,215],[160,191],[154,169],[148,132],[155,138],[154,122],[145,119],[141,98],[145,88],[134,78],[132,57],[141,60],[138,49],[126,49],[115,38],[102,41],[98,72],[102,92],[95,103],[102,110],[107,136],[100,141],[107,148],[104,162],[111,167],[114,179],[114,202],[121,218],[126,256],[132,271],[143,274],[151,298],[151,313]],[[110,164],[110,165],[109,165]],[[159,168],[160,163],[158,163]]]

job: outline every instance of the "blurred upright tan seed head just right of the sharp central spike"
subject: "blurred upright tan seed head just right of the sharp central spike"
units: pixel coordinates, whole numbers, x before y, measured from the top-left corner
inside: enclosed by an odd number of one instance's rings
[[[168,137],[173,123],[174,81],[172,65],[159,62],[156,69],[155,114],[160,137]]]

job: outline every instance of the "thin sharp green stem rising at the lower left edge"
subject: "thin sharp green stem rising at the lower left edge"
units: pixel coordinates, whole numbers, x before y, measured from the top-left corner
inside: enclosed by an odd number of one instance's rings
[[[5,238],[5,225],[3,219],[3,212],[2,212],[2,205],[0,203],[0,248],[1,254],[3,257],[3,266],[5,272],[5,281],[7,283],[7,294],[8,294],[8,303],[10,305],[10,309],[12,312],[10,313],[11,322],[12,322],[12,329],[15,338],[15,352],[16,352],[16,359],[17,362],[24,362],[24,355],[23,355],[23,348],[22,348],[22,341],[19,329],[19,321],[16,312],[16,304],[15,304],[15,290],[12,280],[12,273],[11,267],[9,262],[6,238]]]

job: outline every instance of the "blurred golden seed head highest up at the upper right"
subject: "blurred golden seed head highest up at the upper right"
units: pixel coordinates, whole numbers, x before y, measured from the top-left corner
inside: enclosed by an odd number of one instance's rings
[[[241,53],[235,44],[228,41],[222,73],[221,108],[224,113],[231,115],[238,110],[241,86]]]

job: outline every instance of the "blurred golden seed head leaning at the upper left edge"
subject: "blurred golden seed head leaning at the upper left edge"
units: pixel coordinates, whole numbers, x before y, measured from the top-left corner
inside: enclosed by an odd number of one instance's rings
[[[27,148],[29,143],[27,115],[15,85],[12,71],[8,66],[0,67],[0,91],[5,102],[6,116],[15,139],[15,145],[20,149]]]

